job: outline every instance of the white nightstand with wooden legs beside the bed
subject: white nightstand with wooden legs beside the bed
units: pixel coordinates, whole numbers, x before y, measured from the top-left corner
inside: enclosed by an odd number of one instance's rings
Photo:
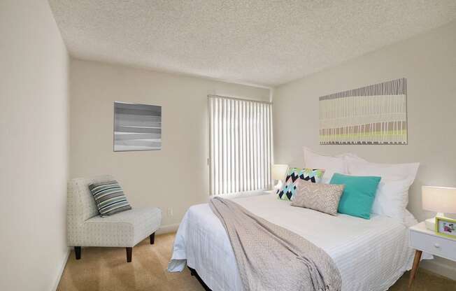
[[[415,278],[422,252],[456,262],[456,239],[439,236],[436,232],[427,229],[425,222],[410,227],[410,247],[415,249],[415,260],[413,260],[408,288],[411,287]]]

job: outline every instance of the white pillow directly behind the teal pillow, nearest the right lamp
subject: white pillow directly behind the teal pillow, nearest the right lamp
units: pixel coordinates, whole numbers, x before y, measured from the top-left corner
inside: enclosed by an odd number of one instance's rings
[[[350,161],[348,173],[355,176],[380,176],[372,213],[404,221],[408,205],[408,188],[413,184],[420,163],[375,164]]]

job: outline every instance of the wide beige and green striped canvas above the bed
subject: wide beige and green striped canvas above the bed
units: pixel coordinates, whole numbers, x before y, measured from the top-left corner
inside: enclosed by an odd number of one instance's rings
[[[407,144],[407,80],[320,97],[320,144]]]

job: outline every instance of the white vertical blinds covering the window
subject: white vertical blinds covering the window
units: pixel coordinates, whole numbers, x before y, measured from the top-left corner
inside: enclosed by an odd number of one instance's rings
[[[211,195],[271,187],[272,104],[208,96]]]

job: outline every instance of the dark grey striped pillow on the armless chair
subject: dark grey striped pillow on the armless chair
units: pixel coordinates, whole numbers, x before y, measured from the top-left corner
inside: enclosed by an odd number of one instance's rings
[[[115,180],[92,183],[89,185],[89,189],[92,195],[94,195],[95,203],[101,217],[131,209],[124,190],[122,190],[122,187]]]

